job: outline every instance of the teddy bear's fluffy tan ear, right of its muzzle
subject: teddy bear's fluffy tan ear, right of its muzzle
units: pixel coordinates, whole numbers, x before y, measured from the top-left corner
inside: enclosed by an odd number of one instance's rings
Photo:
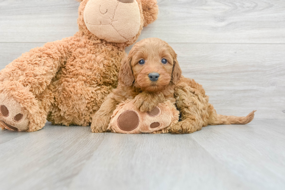
[[[143,8],[143,17],[145,22],[143,26],[153,23],[157,19],[158,6],[156,0],[141,0]]]

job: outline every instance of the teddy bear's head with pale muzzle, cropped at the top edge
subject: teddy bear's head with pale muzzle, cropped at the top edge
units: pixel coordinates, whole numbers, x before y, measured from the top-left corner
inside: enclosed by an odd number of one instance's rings
[[[84,34],[108,42],[133,44],[143,26],[157,19],[156,0],[77,0]]]

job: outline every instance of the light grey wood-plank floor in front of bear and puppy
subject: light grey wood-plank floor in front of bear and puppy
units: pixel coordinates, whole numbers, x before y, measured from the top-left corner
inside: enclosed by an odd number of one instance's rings
[[[285,189],[285,120],[193,134],[0,132],[1,189]]]

